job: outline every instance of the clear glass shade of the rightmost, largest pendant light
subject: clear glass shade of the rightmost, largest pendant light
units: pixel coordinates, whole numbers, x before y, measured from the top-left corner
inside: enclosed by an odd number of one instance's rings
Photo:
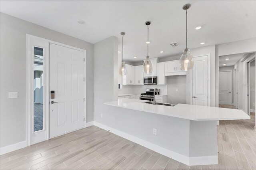
[[[194,66],[194,60],[189,49],[184,49],[180,57],[180,69],[184,71],[191,70]]]

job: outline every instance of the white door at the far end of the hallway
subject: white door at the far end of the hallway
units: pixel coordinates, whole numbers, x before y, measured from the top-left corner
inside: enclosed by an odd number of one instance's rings
[[[232,71],[219,72],[219,104],[232,104]]]

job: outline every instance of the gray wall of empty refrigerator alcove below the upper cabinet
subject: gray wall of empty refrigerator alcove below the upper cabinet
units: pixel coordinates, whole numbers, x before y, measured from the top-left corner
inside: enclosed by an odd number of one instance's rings
[[[186,104],[186,95],[186,75],[167,76],[167,103]]]

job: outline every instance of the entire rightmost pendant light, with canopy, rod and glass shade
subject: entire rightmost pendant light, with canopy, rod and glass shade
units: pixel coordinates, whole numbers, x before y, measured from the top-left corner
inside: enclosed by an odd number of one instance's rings
[[[194,65],[194,60],[192,54],[190,53],[190,49],[187,48],[187,10],[190,8],[190,6],[190,4],[183,6],[183,10],[186,10],[186,48],[180,57],[180,69],[184,71],[191,70]]]

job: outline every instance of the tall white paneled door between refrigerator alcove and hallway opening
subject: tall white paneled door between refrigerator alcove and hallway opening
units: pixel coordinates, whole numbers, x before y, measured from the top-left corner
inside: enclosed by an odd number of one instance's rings
[[[208,105],[208,56],[194,57],[192,69],[192,104]]]

